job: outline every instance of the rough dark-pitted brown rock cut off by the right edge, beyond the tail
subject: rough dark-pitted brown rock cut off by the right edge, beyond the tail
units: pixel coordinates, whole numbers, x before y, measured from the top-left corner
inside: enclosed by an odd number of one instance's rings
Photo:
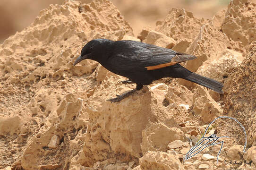
[[[247,133],[247,144],[253,144],[253,134],[256,129],[255,100],[256,100],[256,42],[252,42],[246,59],[239,66],[238,71],[232,77],[230,92],[227,95],[224,113],[238,119],[245,127]],[[243,130],[237,124],[229,124],[234,132],[234,137],[239,139],[241,144],[245,142]]]

